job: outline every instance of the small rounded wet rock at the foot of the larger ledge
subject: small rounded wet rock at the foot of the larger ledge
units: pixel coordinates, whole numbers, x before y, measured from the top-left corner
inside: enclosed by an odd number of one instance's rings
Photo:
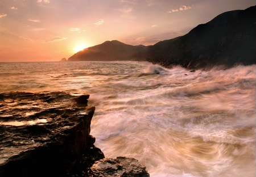
[[[127,157],[104,158],[94,163],[89,170],[89,176],[150,176],[146,167],[137,159]]]

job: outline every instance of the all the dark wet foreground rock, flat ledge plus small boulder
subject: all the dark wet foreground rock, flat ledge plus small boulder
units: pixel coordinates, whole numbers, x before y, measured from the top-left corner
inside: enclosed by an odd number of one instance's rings
[[[136,159],[93,144],[89,95],[0,94],[0,176],[149,176]]]

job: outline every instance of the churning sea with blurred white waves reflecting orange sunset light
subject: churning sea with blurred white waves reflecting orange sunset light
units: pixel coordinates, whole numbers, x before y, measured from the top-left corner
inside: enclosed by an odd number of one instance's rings
[[[255,176],[256,65],[0,63],[0,77],[0,92],[90,94],[95,145],[138,159],[150,176]]]

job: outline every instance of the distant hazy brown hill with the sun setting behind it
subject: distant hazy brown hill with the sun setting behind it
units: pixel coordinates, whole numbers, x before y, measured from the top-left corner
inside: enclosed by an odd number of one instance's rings
[[[135,58],[132,57],[133,54],[144,48],[146,48],[144,45],[127,45],[117,40],[105,41],[102,44],[75,53],[68,58],[68,61],[134,60]]]

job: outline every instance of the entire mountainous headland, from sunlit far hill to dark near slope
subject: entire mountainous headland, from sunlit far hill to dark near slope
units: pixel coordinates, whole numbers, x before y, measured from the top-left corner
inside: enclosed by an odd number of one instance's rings
[[[184,36],[155,45],[127,45],[117,40],[86,48],[68,61],[149,61],[170,67],[207,68],[256,64],[256,6],[224,12]]]

